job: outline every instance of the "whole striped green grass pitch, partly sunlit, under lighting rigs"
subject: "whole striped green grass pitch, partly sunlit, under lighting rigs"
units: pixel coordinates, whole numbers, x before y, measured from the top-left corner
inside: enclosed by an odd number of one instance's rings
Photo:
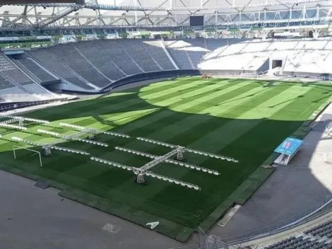
[[[251,184],[248,179],[255,178],[273,149],[309,120],[331,93],[331,86],[309,83],[191,77],[162,81],[25,114],[51,123],[28,125],[27,131],[19,132],[0,129],[1,164],[23,175],[61,183],[64,196],[137,224],[160,221],[157,231],[184,241],[200,224],[208,227],[220,219],[227,207],[240,202],[237,198],[244,202],[249,197],[243,194]],[[141,167],[150,159],[116,151],[114,146],[155,155],[170,151],[135,137],[231,156],[239,163],[185,154],[189,163],[218,170],[220,175],[167,163],[152,168],[155,173],[201,187],[196,191],[148,177],[147,186],[137,185],[129,171],[62,151],[53,151],[52,158],[43,157],[42,168],[37,156],[28,151],[18,151],[18,158],[13,159],[13,144],[24,146],[11,141],[13,136],[46,143],[54,139],[37,129],[73,134],[73,130],[59,127],[59,122],[131,135],[132,139],[97,135],[98,141],[109,144],[107,148],[78,141],[59,144],[128,166]],[[269,173],[256,173],[255,184]]]

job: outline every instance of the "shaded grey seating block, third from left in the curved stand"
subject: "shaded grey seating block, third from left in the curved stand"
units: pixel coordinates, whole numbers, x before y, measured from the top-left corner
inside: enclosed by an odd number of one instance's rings
[[[93,83],[95,86],[104,87],[109,85],[111,81],[102,76],[84,57],[74,49],[73,45],[58,45],[56,47],[47,48],[49,52],[54,53],[62,62],[76,71],[84,79]]]

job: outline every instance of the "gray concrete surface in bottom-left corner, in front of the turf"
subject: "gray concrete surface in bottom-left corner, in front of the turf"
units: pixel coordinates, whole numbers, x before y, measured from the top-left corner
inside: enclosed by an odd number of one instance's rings
[[[62,199],[57,195],[59,190],[42,190],[34,184],[32,180],[0,170],[1,249],[165,249],[184,246],[129,221]]]

